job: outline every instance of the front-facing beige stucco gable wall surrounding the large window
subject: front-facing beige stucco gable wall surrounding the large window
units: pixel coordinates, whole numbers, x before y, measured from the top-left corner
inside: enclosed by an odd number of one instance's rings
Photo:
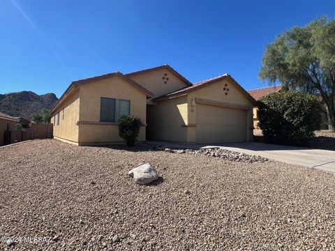
[[[147,96],[124,79],[112,77],[80,86],[80,121],[96,124],[79,124],[80,145],[111,144],[124,142],[119,137],[117,123],[100,123],[101,97],[131,101],[131,115],[146,122]],[[145,127],[140,129],[138,141],[145,140]]]

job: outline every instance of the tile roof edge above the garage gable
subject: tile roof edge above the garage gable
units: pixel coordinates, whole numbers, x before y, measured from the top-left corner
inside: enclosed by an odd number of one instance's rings
[[[230,76],[229,74],[223,74],[223,75],[219,75],[217,77],[212,77],[211,79],[202,80],[200,82],[197,82],[197,83],[193,84],[193,86],[189,86],[189,87],[186,87],[184,89],[180,89],[178,91],[174,91],[172,93],[165,94],[165,95],[160,96],[158,98],[154,98],[154,100],[164,100],[164,99],[168,99],[168,98],[174,98],[174,97],[178,97],[178,96],[181,96],[181,95],[185,95],[186,93],[190,93],[191,91],[195,91],[195,90],[198,90],[200,88],[203,88],[204,86],[208,86],[209,84],[213,84],[215,82],[221,81],[221,79],[224,79],[224,78],[228,78],[228,79],[232,80],[232,82],[234,82],[234,84],[237,85],[237,88],[239,88],[242,92],[244,92],[246,94],[247,98],[255,104],[255,102],[256,102],[255,99],[239,83],[237,83],[236,80],[233,79],[232,76]]]

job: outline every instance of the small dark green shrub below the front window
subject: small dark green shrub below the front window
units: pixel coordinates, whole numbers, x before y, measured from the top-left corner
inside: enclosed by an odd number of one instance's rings
[[[133,146],[140,133],[142,125],[141,119],[135,116],[122,116],[119,122],[119,135],[125,141],[127,146]]]

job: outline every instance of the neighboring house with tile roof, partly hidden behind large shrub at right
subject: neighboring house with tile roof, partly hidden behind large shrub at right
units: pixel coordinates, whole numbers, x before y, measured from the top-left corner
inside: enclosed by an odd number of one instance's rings
[[[270,86],[260,89],[253,89],[249,90],[248,93],[255,98],[255,100],[260,100],[260,98],[267,96],[270,93],[276,93],[283,90],[283,86]],[[318,97],[318,100],[322,102],[321,97]],[[321,112],[321,123],[320,123],[320,129],[321,130],[328,130],[328,123],[327,123],[327,112],[325,110],[325,107],[322,105],[322,112]],[[253,107],[253,127],[255,128],[254,133],[255,135],[261,134],[260,128],[258,126],[258,107]]]

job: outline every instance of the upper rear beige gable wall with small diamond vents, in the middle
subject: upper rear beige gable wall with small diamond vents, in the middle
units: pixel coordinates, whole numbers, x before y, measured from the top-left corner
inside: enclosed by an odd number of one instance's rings
[[[163,79],[163,77],[165,79]],[[168,80],[166,80],[167,77]],[[131,79],[154,93],[155,96],[153,98],[188,86],[184,81],[167,69],[158,69],[147,73],[133,75],[131,76]],[[165,81],[167,82],[166,84]]]

